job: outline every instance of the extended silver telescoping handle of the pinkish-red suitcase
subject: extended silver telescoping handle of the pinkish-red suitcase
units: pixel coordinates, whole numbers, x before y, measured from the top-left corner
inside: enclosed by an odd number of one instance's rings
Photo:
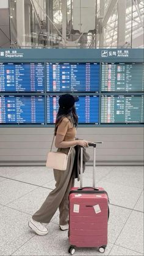
[[[96,186],[96,144],[102,144],[103,142],[89,142],[88,146],[93,147],[93,188]],[[83,162],[83,147],[81,147],[81,170],[80,170],[80,188],[82,188],[82,162]]]

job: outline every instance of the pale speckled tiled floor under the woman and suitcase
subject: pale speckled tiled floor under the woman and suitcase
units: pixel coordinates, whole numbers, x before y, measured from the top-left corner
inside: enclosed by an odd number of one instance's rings
[[[109,194],[108,244],[77,248],[74,255],[143,255],[143,166],[98,166],[96,186]],[[27,222],[48,196],[55,181],[46,167],[0,167],[0,255],[69,255],[68,234],[59,230],[59,211],[46,236],[35,235]],[[76,181],[76,186],[79,183]],[[83,186],[92,185],[87,166]]]

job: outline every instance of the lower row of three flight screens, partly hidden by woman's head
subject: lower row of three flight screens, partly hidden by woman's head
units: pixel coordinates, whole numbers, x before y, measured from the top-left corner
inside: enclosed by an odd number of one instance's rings
[[[143,95],[79,95],[79,124],[142,124],[143,100]],[[58,109],[58,95],[2,95],[0,125],[54,124]]]

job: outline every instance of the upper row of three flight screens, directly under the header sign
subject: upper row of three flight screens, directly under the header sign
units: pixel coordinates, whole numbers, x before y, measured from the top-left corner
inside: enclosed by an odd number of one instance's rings
[[[143,62],[0,63],[0,92],[143,92]]]

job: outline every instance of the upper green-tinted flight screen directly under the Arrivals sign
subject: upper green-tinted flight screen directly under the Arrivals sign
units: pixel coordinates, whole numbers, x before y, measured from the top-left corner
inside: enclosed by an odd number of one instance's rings
[[[101,92],[142,92],[144,64],[137,62],[103,63]]]

